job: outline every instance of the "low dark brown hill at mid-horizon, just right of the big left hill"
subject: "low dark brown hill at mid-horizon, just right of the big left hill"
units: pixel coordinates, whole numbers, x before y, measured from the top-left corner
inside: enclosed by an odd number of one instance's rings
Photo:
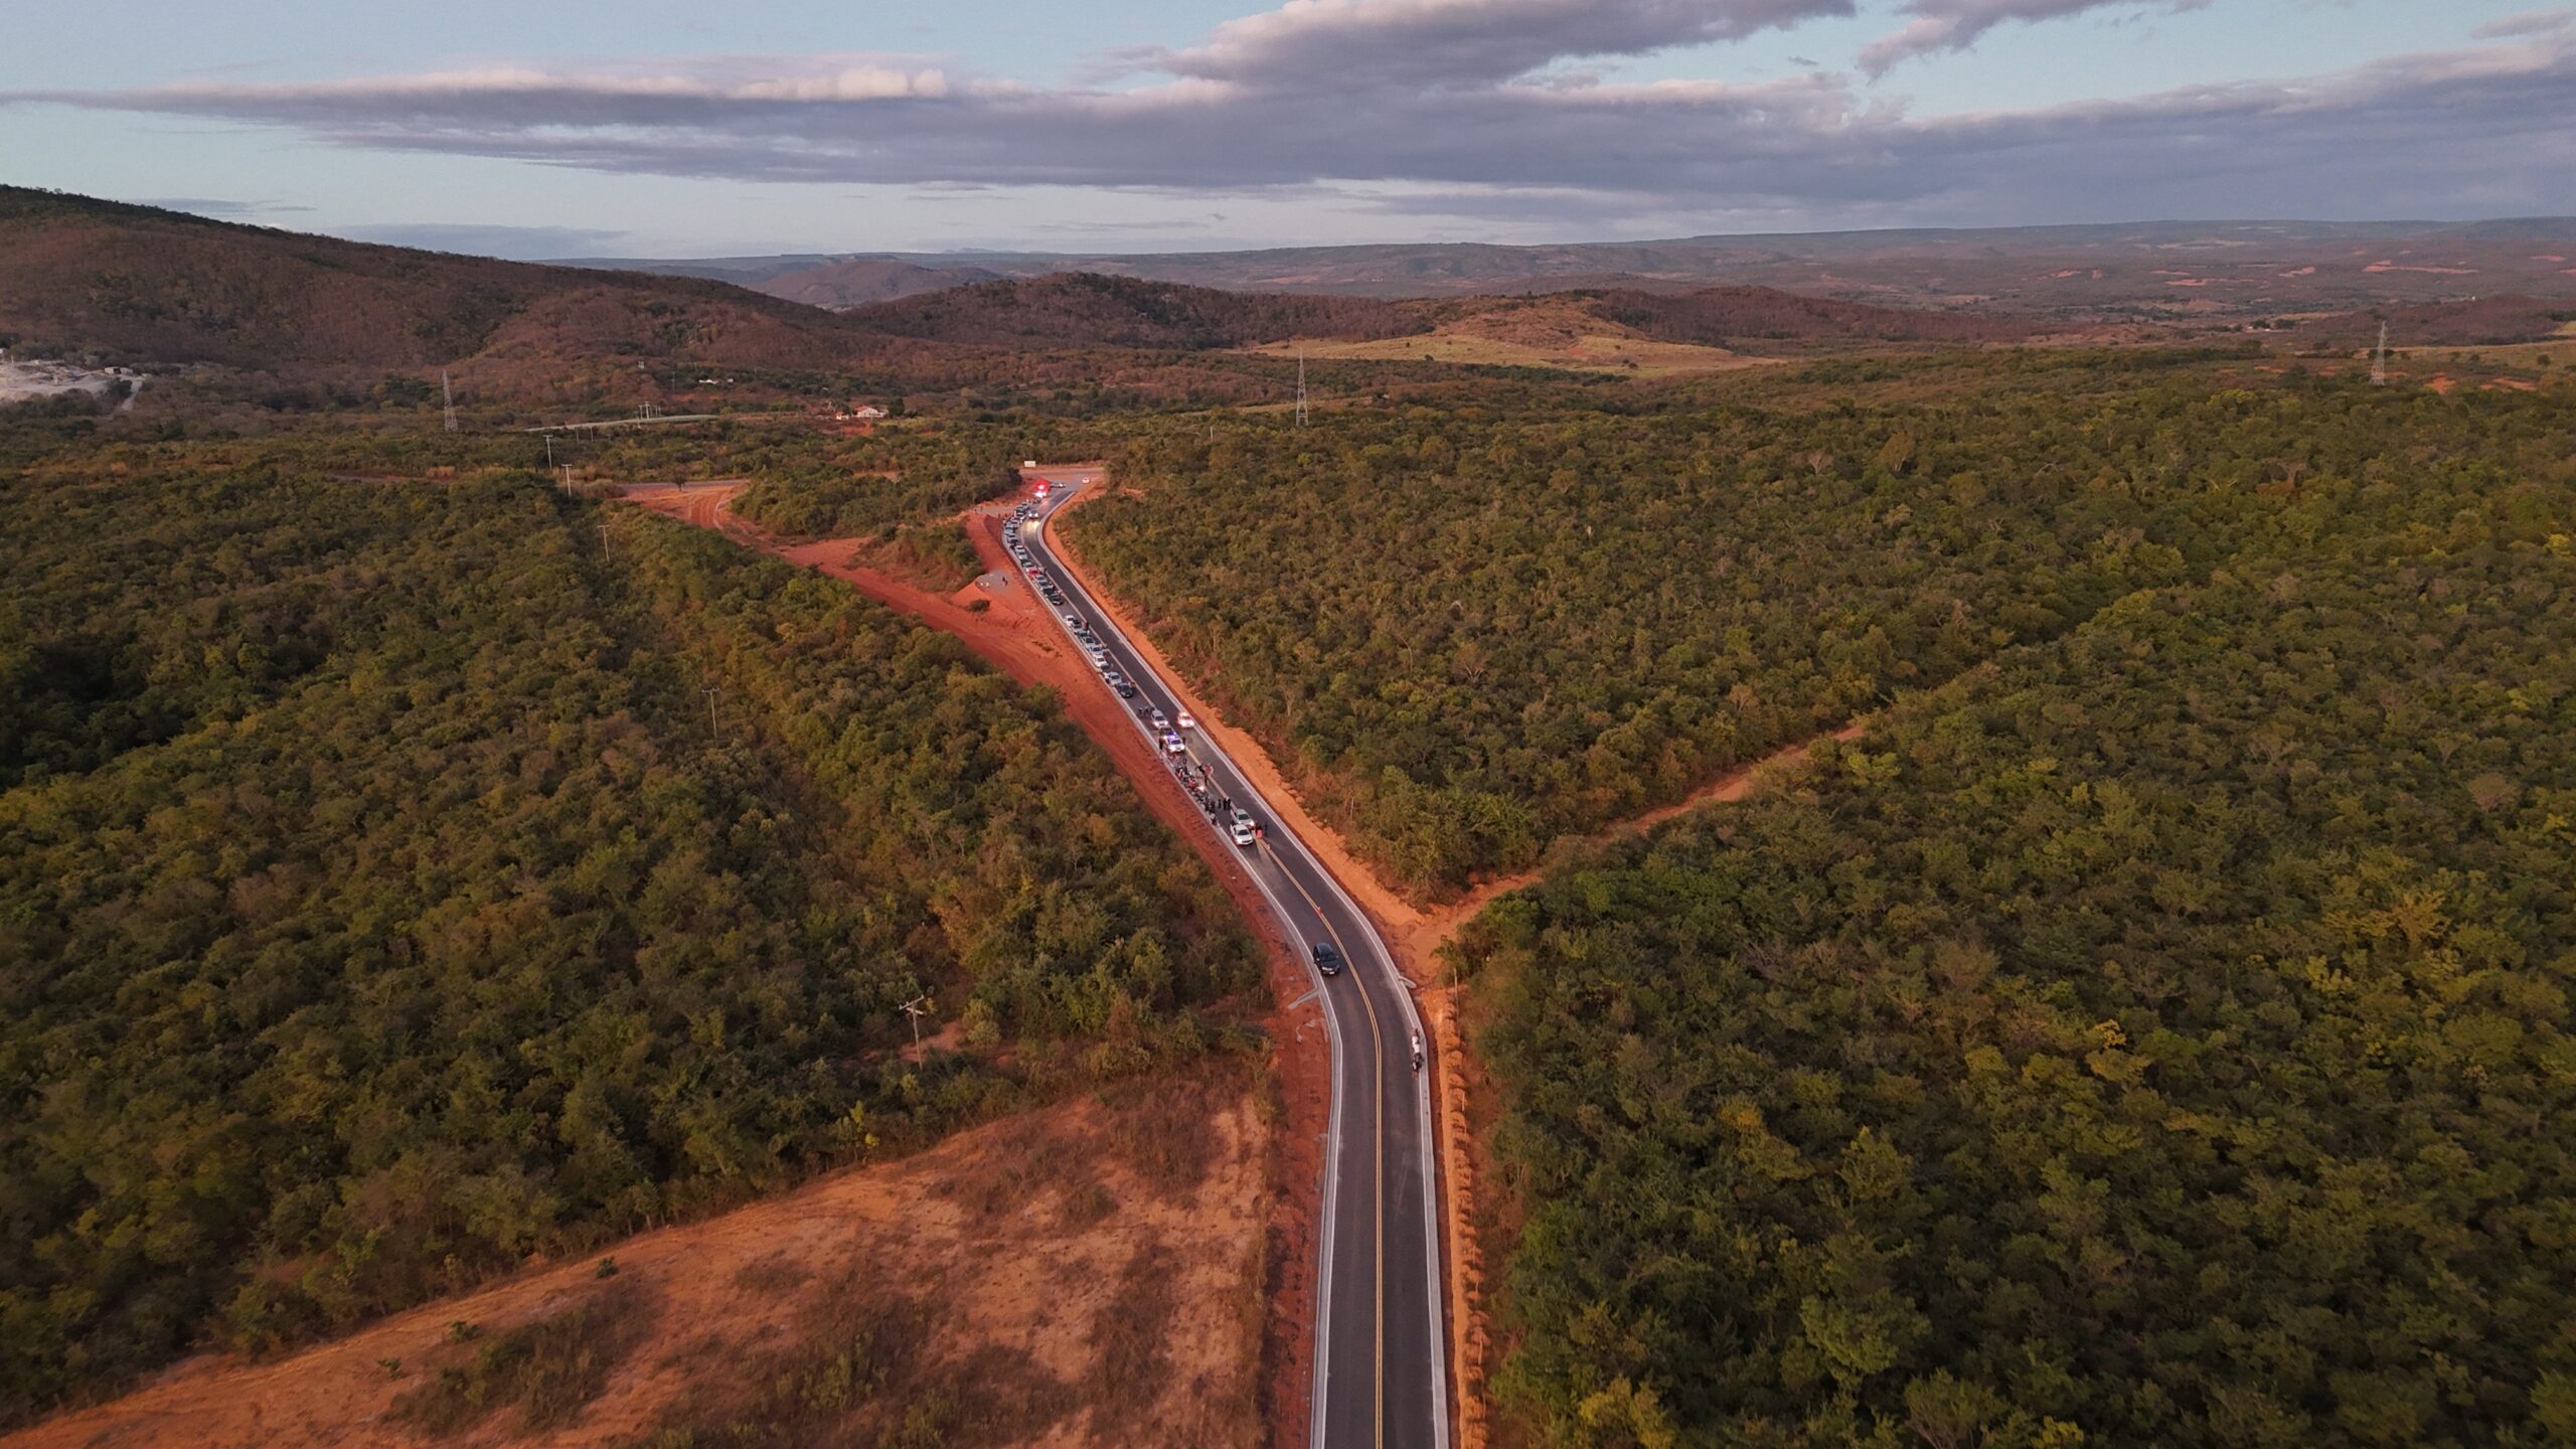
[[[1123,276],[984,281],[842,312],[899,338],[984,345],[1234,348],[1278,338],[1394,338],[1422,325],[1363,297],[1213,291]]]

